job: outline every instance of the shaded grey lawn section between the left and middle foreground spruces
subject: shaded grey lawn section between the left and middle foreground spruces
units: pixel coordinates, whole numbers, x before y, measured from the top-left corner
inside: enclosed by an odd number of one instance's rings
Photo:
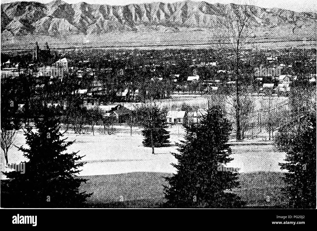
[[[163,184],[168,173],[132,172],[115,175],[87,176],[82,191],[94,194],[88,198],[89,207],[152,208],[164,202]]]

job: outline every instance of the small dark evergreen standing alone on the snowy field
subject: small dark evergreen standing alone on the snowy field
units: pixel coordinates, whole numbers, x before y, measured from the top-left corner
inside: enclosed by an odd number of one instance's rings
[[[145,147],[152,147],[152,140],[154,147],[165,147],[169,143],[169,132],[166,131],[167,125],[164,113],[158,108],[147,109],[146,116],[143,117],[144,130],[142,135],[145,137],[143,145]]]

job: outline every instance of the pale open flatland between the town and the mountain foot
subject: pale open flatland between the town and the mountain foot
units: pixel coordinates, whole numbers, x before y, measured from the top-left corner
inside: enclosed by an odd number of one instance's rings
[[[302,34],[293,34],[292,28],[287,37],[281,37],[281,34],[272,34],[267,32],[261,36],[249,41],[246,48],[315,48],[316,36],[312,32],[303,32]],[[6,37],[1,36],[2,51],[14,49],[33,49],[35,41],[48,42],[51,49],[87,49],[87,48],[119,48],[119,49],[166,49],[166,48],[217,48],[214,44],[215,38],[208,30],[192,29],[179,32],[125,32],[125,33],[107,33],[100,35],[71,35],[71,36],[44,36],[44,35],[24,35]]]

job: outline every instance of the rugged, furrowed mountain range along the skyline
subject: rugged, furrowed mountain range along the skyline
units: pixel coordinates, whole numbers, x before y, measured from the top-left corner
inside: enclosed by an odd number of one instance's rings
[[[94,35],[109,32],[159,30],[177,32],[188,28],[203,30],[217,26],[226,17],[230,5],[183,1],[142,3],[124,6],[87,3],[68,4],[52,1],[1,4],[1,34],[22,35]],[[257,30],[301,28],[316,33],[316,13],[285,9],[253,8],[250,25]],[[283,33],[283,32],[282,32]],[[294,33],[294,30],[293,30]]]

